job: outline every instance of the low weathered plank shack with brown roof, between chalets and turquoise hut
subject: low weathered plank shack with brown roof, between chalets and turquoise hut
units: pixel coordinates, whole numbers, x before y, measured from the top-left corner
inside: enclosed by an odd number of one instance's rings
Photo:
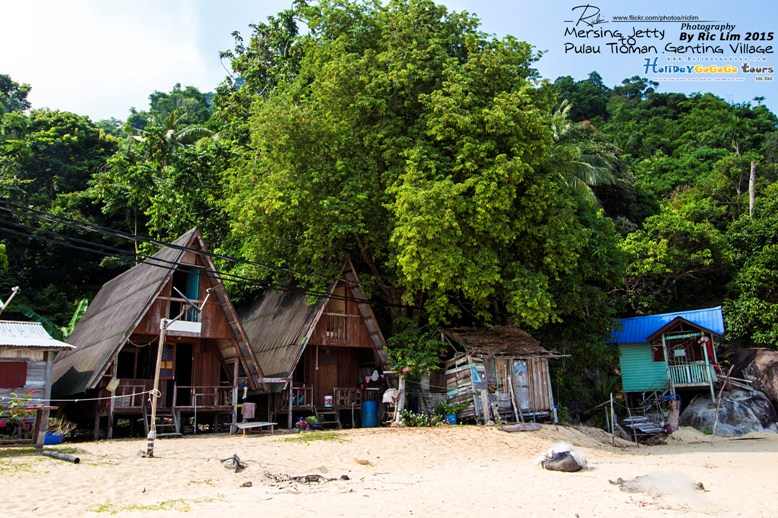
[[[548,360],[558,354],[512,326],[443,335],[458,350],[446,361],[445,377],[448,400],[466,405],[460,418],[488,421],[486,409],[511,421],[556,419]]]

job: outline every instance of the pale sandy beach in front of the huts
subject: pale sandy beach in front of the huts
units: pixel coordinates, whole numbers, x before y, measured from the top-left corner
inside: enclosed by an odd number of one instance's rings
[[[584,451],[588,469],[535,464],[560,441]],[[684,428],[638,448],[591,428],[457,426],[161,439],[153,459],[139,455],[145,440],[47,449],[80,463],[0,449],[2,516],[766,517],[778,508],[775,434],[711,445]],[[233,454],[241,472],[221,462]],[[611,483],[619,478],[628,483]]]

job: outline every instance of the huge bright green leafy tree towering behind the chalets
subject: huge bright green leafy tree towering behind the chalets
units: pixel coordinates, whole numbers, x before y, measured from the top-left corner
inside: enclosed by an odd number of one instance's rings
[[[242,254],[334,275],[351,253],[385,302],[532,328],[572,307],[584,263],[612,269],[616,254],[588,255],[613,226],[565,181],[579,157],[558,147],[528,44],[424,0],[282,19],[239,40],[242,82],[217,106],[250,114],[227,204]]]

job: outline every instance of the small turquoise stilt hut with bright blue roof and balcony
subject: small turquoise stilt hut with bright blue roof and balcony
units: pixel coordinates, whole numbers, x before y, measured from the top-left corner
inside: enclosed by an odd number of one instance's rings
[[[609,342],[619,348],[624,392],[710,388],[715,399],[723,335],[721,306],[620,319]]]

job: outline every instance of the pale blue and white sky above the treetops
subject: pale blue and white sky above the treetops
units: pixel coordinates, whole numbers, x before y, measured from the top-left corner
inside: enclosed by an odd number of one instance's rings
[[[597,71],[613,87],[638,75],[659,82],[659,92],[711,92],[752,104],[764,97],[760,102],[778,111],[774,0],[438,1],[478,15],[486,33],[543,51],[537,68],[552,81]],[[289,6],[291,0],[0,0],[0,74],[32,86],[33,108],[123,120],[131,107],[147,109],[149,94],[176,83],[213,91],[227,74],[219,52],[233,47],[233,31],[248,39],[250,23]]]

